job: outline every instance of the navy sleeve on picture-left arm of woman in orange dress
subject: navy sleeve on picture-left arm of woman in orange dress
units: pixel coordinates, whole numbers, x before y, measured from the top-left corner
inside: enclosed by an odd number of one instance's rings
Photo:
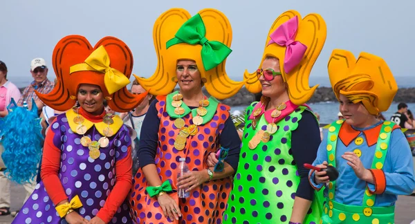
[[[151,102],[149,110],[142,122],[140,144],[138,147],[138,162],[140,163],[140,167],[156,163],[154,159],[156,158],[158,128],[160,127],[160,118],[158,118],[156,109],[157,102],[158,100]]]

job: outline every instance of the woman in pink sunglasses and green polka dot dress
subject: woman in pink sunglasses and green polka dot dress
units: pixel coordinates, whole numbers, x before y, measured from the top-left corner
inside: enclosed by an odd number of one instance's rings
[[[268,32],[248,91],[262,91],[246,110],[239,166],[223,223],[317,223],[320,209],[303,164],[321,142],[317,118],[306,106],[315,88],[308,76],[326,39],[324,19],[295,10],[280,15]],[[217,160],[214,160],[217,162]],[[212,166],[212,164],[210,164]]]

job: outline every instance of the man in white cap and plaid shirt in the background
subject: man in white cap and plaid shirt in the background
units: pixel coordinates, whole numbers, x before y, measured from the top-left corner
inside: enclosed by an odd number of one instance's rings
[[[28,103],[29,109],[31,109],[33,98],[35,99],[39,111],[42,111],[44,104],[35,94],[35,90],[39,93],[46,94],[53,89],[53,82],[50,82],[47,77],[48,67],[46,66],[45,59],[40,57],[33,59],[30,63],[30,73],[32,73],[33,82],[24,89],[23,95],[21,96],[19,102],[17,102],[17,105],[22,106],[23,102],[26,101]]]

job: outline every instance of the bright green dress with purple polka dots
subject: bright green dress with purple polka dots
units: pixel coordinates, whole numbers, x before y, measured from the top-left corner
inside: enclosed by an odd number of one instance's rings
[[[248,107],[248,115],[255,104]],[[277,123],[278,131],[269,142],[260,142],[249,149],[248,142],[257,130],[266,130],[264,115],[252,129],[252,120],[246,120],[239,166],[228,200],[223,223],[288,223],[293,211],[299,174],[291,151],[291,131],[297,129],[304,107],[300,106]],[[320,221],[314,201],[303,223]]]

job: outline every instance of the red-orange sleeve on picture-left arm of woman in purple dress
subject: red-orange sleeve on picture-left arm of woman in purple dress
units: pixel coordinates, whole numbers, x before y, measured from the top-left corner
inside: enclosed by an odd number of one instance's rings
[[[60,167],[61,151],[53,144],[53,137],[55,137],[55,133],[49,130],[43,149],[40,176],[50,199],[57,205],[62,200],[68,199],[68,196],[66,196],[64,187],[62,187],[62,183],[57,177]]]

